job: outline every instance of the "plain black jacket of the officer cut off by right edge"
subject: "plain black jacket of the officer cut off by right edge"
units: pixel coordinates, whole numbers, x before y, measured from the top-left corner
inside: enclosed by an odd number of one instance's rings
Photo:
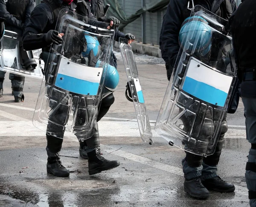
[[[241,96],[256,98],[256,1],[243,0],[230,17]],[[253,74],[254,73],[254,80]],[[246,78],[246,79],[244,79]]]

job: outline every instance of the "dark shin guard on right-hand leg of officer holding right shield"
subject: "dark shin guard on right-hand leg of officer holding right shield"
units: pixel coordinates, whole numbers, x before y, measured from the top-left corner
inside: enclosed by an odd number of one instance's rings
[[[221,150],[224,144],[224,135],[227,132],[228,126],[227,126],[227,121],[225,120],[222,122],[222,128],[221,128],[221,134],[219,136],[215,152],[204,158],[204,163],[209,165],[209,166],[216,166],[218,165],[218,162],[220,161],[220,156],[221,156]]]

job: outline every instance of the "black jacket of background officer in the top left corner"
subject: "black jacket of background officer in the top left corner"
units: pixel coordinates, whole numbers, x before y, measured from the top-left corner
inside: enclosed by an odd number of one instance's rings
[[[34,0],[0,0],[0,17],[6,19],[6,29],[22,34],[34,7]]]

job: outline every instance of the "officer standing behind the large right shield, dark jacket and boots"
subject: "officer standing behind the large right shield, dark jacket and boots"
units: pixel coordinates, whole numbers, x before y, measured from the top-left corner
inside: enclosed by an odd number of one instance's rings
[[[212,13],[228,20],[236,10],[234,0],[170,0],[167,7],[160,33],[160,49],[166,62],[167,78],[170,80],[175,68],[175,61],[180,49],[179,31],[184,20],[190,16],[191,8],[200,5]],[[189,124],[189,117],[181,118],[184,127]],[[215,153],[211,156],[198,156],[186,152],[182,161],[185,177],[184,190],[195,198],[209,197],[208,190],[218,192],[233,192],[235,186],[223,181],[217,175],[217,165],[220,159],[224,134],[227,132],[227,122],[222,122],[221,134],[216,145]]]

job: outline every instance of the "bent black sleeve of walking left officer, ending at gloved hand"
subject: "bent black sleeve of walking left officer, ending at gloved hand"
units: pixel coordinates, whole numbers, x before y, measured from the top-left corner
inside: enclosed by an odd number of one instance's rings
[[[48,46],[45,41],[46,34],[43,34],[43,31],[47,23],[52,19],[50,11],[47,11],[40,5],[35,7],[23,34],[24,50],[36,50]]]

